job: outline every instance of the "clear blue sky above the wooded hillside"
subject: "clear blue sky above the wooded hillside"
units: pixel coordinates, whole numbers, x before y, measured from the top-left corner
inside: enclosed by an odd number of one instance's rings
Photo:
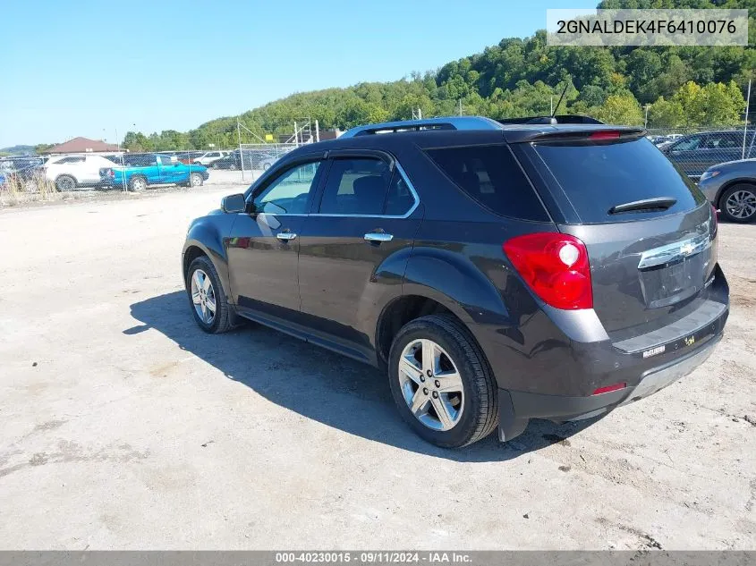
[[[397,80],[529,36],[546,27],[547,8],[597,3],[8,2],[0,148],[186,131],[293,92]]]

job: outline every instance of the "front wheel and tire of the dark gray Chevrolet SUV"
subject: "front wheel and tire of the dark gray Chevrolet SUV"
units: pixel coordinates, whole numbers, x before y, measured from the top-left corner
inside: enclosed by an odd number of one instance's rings
[[[228,305],[216,267],[207,256],[191,262],[186,272],[186,293],[194,321],[208,334],[221,334],[234,327],[234,312]]]

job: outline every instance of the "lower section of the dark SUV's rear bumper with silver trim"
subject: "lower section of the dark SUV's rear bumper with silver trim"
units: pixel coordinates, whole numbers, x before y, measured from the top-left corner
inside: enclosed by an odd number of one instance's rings
[[[662,366],[646,370],[637,384],[615,392],[568,397],[499,389],[499,440],[504,442],[520,435],[531,418],[565,421],[598,417],[620,405],[657,393],[706,361],[721,338],[720,330],[701,347]]]

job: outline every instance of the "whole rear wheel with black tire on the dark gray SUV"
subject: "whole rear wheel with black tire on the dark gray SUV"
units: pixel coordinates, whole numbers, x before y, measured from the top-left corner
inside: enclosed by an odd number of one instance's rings
[[[391,346],[388,379],[400,415],[431,444],[458,448],[497,426],[497,386],[488,361],[452,316],[404,325]]]

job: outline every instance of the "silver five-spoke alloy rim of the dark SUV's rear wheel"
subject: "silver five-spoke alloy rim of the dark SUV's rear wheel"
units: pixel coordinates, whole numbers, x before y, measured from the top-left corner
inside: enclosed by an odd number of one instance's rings
[[[449,354],[432,340],[414,340],[402,351],[398,369],[412,415],[433,430],[454,428],[462,418],[464,386]]]

